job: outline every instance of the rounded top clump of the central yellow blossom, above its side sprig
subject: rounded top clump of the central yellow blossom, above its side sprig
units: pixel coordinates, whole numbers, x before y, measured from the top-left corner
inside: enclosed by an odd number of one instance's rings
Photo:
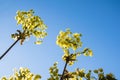
[[[76,50],[82,46],[82,42],[80,40],[81,34],[73,33],[70,29],[66,29],[66,32],[60,31],[59,35],[57,36],[56,44],[59,45],[61,48],[66,49],[73,49]]]

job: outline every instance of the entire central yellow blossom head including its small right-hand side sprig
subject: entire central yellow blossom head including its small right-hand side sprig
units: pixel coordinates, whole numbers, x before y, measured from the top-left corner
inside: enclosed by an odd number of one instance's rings
[[[85,56],[92,56],[92,50],[89,48],[85,48],[83,51],[77,51],[78,48],[82,47],[81,42],[82,34],[72,33],[70,29],[66,29],[66,31],[60,31],[57,36],[56,44],[59,45],[64,52],[62,56],[63,61],[67,62],[69,65],[73,65],[76,61],[77,56],[83,54]],[[70,51],[73,50],[73,53]]]

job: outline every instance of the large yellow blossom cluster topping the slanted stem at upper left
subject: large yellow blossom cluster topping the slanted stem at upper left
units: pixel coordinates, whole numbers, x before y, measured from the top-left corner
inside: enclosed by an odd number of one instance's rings
[[[44,24],[44,22],[41,20],[39,16],[34,15],[33,10],[29,10],[27,12],[25,11],[17,11],[17,15],[15,17],[17,20],[18,25],[22,25],[23,31],[21,31],[22,36],[12,34],[12,38],[14,39],[21,39],[21,44],[24,42],[26,38],[29,38],[31,35],[35,36],[37,38],[35,44],[41,44],[42,38],[47,36],[46,29],[47,26]]]

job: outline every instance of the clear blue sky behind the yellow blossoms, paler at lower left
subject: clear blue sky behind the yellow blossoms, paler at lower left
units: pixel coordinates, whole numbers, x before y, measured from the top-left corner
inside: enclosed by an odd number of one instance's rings
[[[0,54],[13,42],[10,35],[17,29],[14,19],[17,10],[33,9],[48,26],[48,36],[42,45],[33,44],[30,38],[19,43],[0,61],[0,77],[9,76],[13,68],[28,67],[33,73],[49,77],[49,67],[58,61],[62,72],[63,52],[55,41],[60,30],[70,28],[83,34],[83,47],[93,50],[94,56],[78,57],[74,68],[103,68],[120,79],[120,1],[119,0],[0,0]]]

